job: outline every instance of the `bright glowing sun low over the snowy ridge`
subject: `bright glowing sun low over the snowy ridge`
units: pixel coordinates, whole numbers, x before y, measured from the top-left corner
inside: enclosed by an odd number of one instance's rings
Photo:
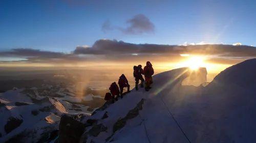
[[[203,56],[187,56],[187,59],[181,63],[182,67],[189,67],[191,70],[198,70],[200,67],[206,67]]]

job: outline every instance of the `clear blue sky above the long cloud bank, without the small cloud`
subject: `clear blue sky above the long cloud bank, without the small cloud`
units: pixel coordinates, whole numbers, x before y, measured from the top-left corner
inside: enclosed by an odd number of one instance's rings
[[[73,51],[98,39],[129,43],[256,45],[256,1],[0,1],[0,50]],[[108,20],[127,27],[143,14],[154,32],[102,31]]]

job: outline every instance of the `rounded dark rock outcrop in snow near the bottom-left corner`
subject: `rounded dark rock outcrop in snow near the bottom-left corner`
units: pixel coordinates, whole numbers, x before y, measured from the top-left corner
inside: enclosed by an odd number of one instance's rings
[[[18,118],[14,118],[14,117],[10,117],[5,125],[5,132],[9,133],[12,130],[16,129],[17,127],[19,127],[20,124],[22,124],[23,120],[22,119],[18,119]]]

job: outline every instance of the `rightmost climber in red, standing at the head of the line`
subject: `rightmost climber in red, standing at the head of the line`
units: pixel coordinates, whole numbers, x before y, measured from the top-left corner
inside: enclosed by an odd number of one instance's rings
[[[154,69],[152,64],[147,61],[146,66],[143,69],[143,74],[145,76],[145,90],[148,91],[151,89],[150,85],[153,83],[152,75],[154,74]]]

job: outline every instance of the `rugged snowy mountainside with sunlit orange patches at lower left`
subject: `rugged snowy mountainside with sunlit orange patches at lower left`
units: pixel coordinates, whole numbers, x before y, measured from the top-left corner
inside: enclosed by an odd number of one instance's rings
[[[99,97],[91,95],[84,102],[95,98]],[[82,113],[89,116],[94,110],[82,100],[70,90],[52,86],[14,88],[1,93],[0,142],[46,142],[54,139],[61,115]]]

